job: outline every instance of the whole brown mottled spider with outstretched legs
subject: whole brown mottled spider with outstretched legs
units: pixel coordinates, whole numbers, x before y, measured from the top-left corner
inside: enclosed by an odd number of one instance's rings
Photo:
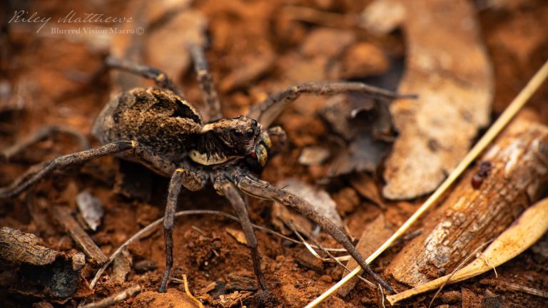
[[[165,73],[148,66],[107,58],[108,67],[153,79],[156,88],[134,88],[120,93],[106,104],[93,125],[93,135],[103,145],[55,158],[40,170],[29,170],[11,186],[0,190],[0,198],[19,195],[54,170],[105,155],[118,155],[171,178],[163,219],[166,272],[160,292],[166,291],[173,265],[172,233],[178,195],[182,188],[196,191],[207,184],[213,185],[219,195],[224,195],[238,214],[261,289],[268,287],[260,272],[257,240],[240,192],[298,210],[335,238],[367,273],[392,292],[390,284],[370,269],[339,227],[318,214],[303,198],[260,180],[258,174],[272,148],[270,135],[284,135],[279,127],[269,128],[270,124],[301,94],[333,95],[357,91],[384,99],[404,96],[363,83],[300,83],[256,104],[246,116],[223,118],[203,49],[196,45],[189,48],[203,92],[206,119],[181,96],[181,91]]]

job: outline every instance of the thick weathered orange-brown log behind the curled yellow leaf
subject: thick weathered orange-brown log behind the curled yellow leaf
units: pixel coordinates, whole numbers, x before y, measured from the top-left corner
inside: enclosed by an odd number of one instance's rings
[[[548,179],[548,127],[519,117],[478,161],[392,261],[395,279],[415,287],[452,272],[537,200]]]

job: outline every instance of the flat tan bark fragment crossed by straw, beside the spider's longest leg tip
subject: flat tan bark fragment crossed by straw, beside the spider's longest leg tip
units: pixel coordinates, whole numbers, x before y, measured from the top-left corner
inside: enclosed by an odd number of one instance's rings
[[[362,256],[371,255],[375,250],[377,250],[380,245],[382,245],[385,240],[387,240],[390,235],[392,235],[393,230],[390,230],[385,223],[385,215],[379,215],[375,220],[373,220],[369,225],[365,227],[365,230],[362,232],[362,237],[360,241],[357,242],[356,249],[360,252]],[[348,261],[346,267],[349,269],[354,269],[358,265],[354,259]],[[363,272],[363,271],[361,271]],[[367,277],[365,277],[367,279]],[[338,294],[342,297],[347,296],[352,289],[354,289],[357,283],[357,277],[353,277],[345,285],[340,287]]]

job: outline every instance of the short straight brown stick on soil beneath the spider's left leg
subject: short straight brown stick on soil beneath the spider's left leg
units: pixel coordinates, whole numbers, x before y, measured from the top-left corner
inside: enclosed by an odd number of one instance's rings
[[[72,239],[82,247],[83,252],[90,257],[91,262],[96,265],[102,265],[108,258],[105,254],[97,247],[95,242],[91,240],[91,237],[82,229],[78,222],[72,217],[71,210],[68,207],[54,207],[54,217],[61,224],[66,232],[71,235]]]

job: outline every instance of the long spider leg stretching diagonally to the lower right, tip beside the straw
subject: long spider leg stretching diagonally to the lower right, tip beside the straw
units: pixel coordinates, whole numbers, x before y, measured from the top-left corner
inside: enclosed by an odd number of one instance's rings
[[[387,291],[394,292],[394,289],[390,287],[390,284],[385,282],[385,280],[383,280],[378,274],[371,270],[371,267],[367,265],[367,262],[365,262],[365,259],[362,257],[362,255],[360,255],[360,252],[357,252],[354,245],[352,245],[350,240],[348,240],[347,235],[345,235],[345,233],[342,232],[342,230],[340,230],[340,228],[337,227],[337,225],[335,225],[331,220],[324,217],[323,215],[320,215],[315,210],[315,208],[310,205],[310,203],[308,203],[306,200],[296,195],[293,195],[288,191],[280,188],[275,188],[273,185],[257,180],[253,177],[253,175],[250,175],[249,173],[241,169],[234,170],[231,174],[231,178],[238,186],[238,188],[240,188],[240,190],[242,190],[244,193],[252,195],[253,197],[258,197],[265,200],[272,200],[275,202],[280,202],[281,204],[288,207],[293,207],[295,210],[305,215],[305,217],[313,220],[313,222],[320,225],[320,227],[325,230],[325,232],[328,232],[329,235],[331,235],[337,242],[345,247],[347,252],[352,256],[352,258],[354,258],[354,260],[356,260],[357,264],[359,264],[362,269],[365,270],[365,272],[370,274],[377,282],[382,285],[382,287],[387,289]]]

